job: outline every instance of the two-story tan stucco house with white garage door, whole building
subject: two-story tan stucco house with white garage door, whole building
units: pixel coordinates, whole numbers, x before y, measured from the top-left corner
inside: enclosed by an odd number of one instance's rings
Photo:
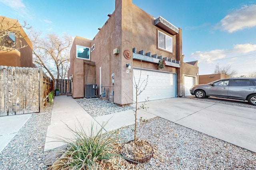
[[[197,83],[197,62],[183,63],[180,28],[150,16],[132,0],[116,0],[115,11],[108,16],[92,40],[74,39],[68,72],[73,98],[83,98],[84,85],[95,83],[98,95],[124,106],[136,97],[134,78],[138,82],[148,75],[139,102],[184,96],[184,76],[192,77],[190,84]],[[157,65],[160,59],[166,60],[162,69]]]

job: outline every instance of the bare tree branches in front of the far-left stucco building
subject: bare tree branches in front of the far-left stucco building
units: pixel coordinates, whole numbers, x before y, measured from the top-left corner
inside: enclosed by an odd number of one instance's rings
[[[20,25],[18,20],[0,16],[0,50],[8,52],[28,46],[23,41],[27,37],[24,28],[31,28],[26,21]]]

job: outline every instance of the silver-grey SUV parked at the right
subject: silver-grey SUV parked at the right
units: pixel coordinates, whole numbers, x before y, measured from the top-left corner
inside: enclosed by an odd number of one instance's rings
[[[209,84],[199,84],[190,88],[190,93],[196,98],[216,96],[247,100],[256,105],[256,78],[225,78]]]

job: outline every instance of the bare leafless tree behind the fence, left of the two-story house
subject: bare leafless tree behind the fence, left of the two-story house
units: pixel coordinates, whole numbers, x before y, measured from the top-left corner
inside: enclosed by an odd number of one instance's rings
[[[44,68],[52,79],[67,78],[72,37],[58,37],[54,33],[42,37],[42,33],[35,31],[31,31],[29,36],[33,44],[34,64]]]

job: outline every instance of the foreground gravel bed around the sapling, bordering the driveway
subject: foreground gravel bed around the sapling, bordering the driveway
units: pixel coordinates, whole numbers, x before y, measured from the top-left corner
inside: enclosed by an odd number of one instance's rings
[[[124,127],[119,135],[132,139],[133,129]],[[256,169],[256,153],[160,117],[140,123],[137,133],[157,149],[149,162],[136,166],[139,170]]]

